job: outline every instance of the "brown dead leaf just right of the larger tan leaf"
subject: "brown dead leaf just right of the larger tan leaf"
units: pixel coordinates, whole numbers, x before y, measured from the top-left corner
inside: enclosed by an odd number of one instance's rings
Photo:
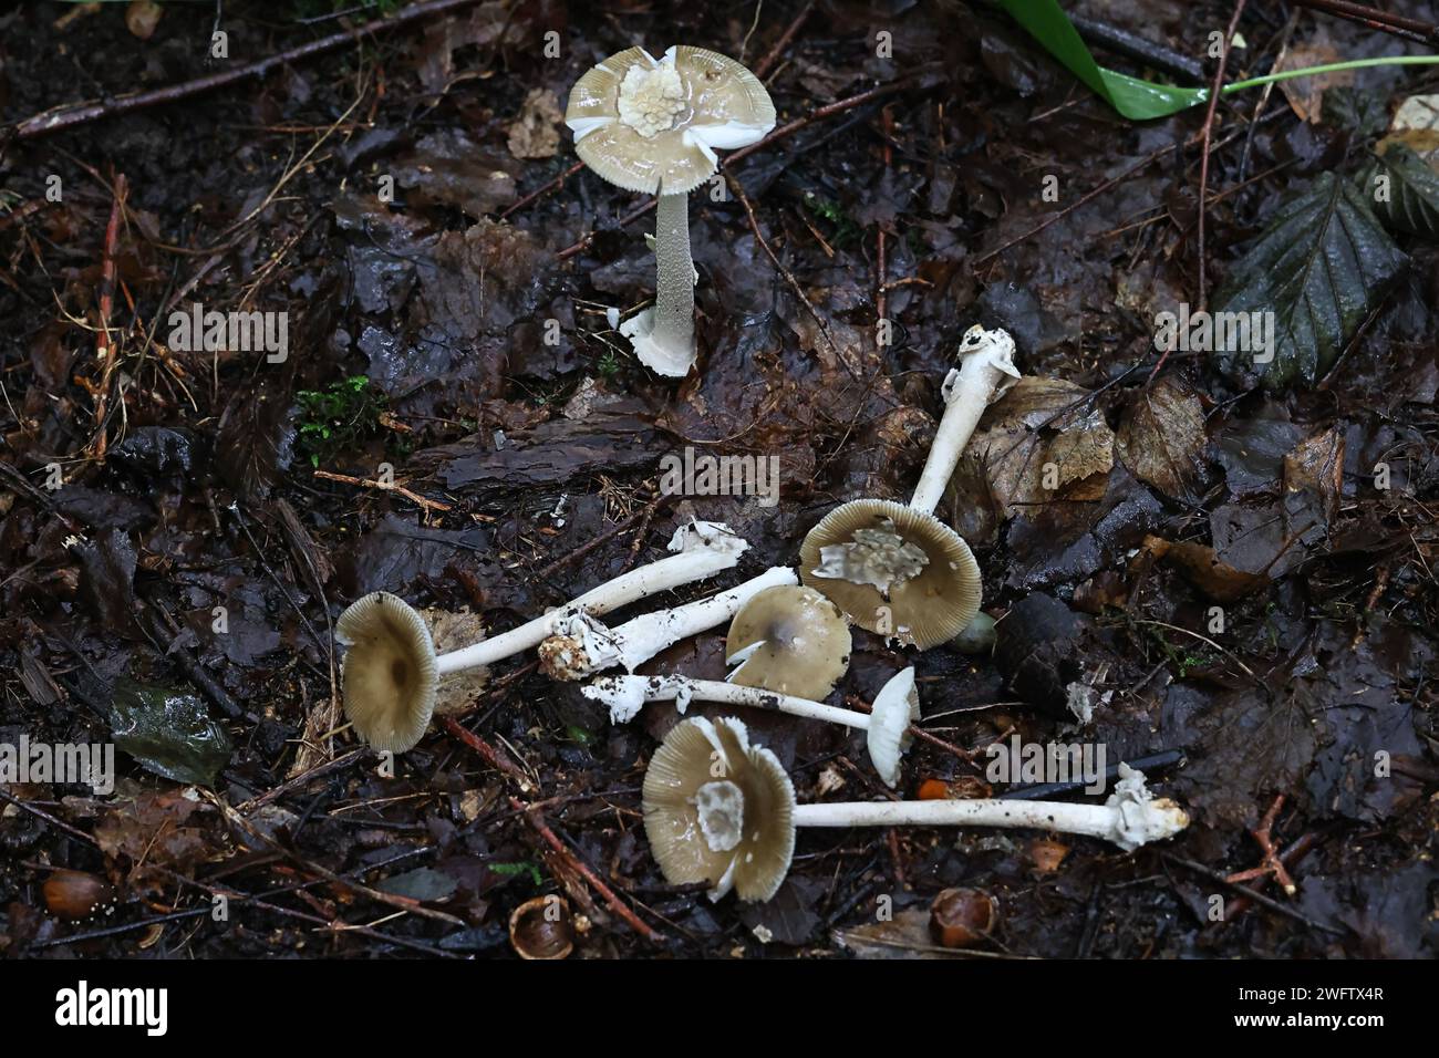
[[[1120,422],[1118,443],[1134,476],[1176,499],[1193,498],[1207,443],[1199,397],[1168,379],[1141,389]]]

